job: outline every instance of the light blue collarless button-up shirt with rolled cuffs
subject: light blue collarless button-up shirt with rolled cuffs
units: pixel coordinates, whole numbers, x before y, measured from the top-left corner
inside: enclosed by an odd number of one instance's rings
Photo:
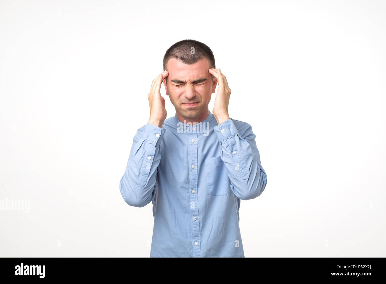
[[[240,199],[267,183],[255,137],[211,112],[193,126],[175,115],[137,130],[120,192],[131,206],[153,204],[150,257],[244,257]]]

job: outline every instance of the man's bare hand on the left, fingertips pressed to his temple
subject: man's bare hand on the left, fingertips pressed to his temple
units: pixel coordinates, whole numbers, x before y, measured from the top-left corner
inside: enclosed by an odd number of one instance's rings
[[[154,124],[159,128],[162,127],[166,119],[165,99],[161,97],[161,93],[159,92],[161,90],[161,83],[166,77],[168,77],[168,71],[165,70],[153,80],[150,93],[147,95],[150,106],[150,118],[148,123]]]

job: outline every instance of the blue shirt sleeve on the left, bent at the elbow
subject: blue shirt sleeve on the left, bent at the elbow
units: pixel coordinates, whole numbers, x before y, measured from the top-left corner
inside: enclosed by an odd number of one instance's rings
[[[164,128],[148,122],[134,136],[127,167],[119,185],[122,197],[130,206],[143,207],[154,198],[164,131]]]

